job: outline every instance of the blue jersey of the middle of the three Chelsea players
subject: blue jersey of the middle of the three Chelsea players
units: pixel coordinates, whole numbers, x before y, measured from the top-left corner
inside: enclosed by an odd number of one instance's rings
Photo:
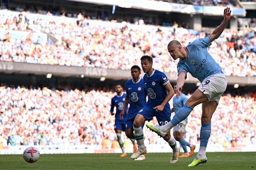
[[[148,91],[144,85],[144,81],[140,80],[136,83],[133,80],[128,80],[125,82],[126,94],[129,94],[129,111],[128,118],[131,119],[137,115],[137,113],[142,109],[147,103]]]

